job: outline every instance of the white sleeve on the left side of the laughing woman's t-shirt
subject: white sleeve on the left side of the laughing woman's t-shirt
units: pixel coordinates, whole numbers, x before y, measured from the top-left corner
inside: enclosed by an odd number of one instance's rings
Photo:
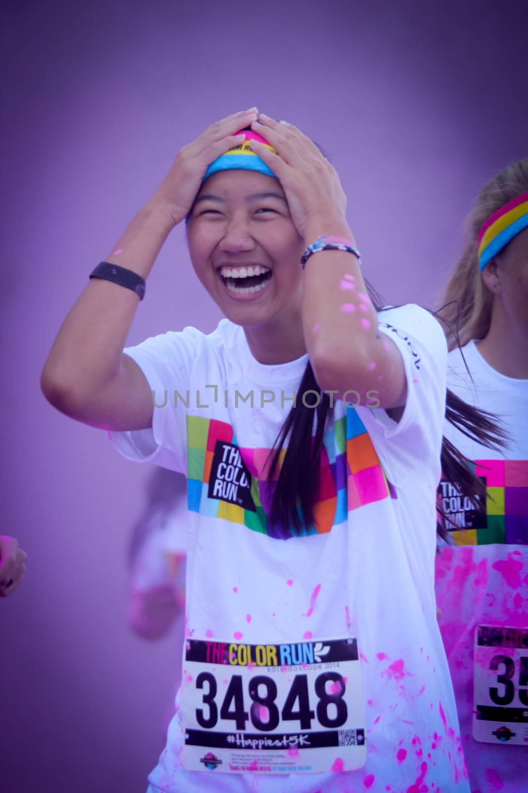
[[[155,462],[187,474],[187,392],[203,333],[184,328],[154,336],[137,347],[125,347],[153,392],[152,427],[146,430],[111,431],[116,449],[135,462]],[[177,396],[180,395],[180,396]]]

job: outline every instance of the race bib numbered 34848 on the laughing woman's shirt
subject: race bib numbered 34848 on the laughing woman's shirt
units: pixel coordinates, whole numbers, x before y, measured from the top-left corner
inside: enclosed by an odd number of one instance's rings
[[[248,645],[188,639],[181,694],[189,771],[284,774],[365,763],[356,639]]]

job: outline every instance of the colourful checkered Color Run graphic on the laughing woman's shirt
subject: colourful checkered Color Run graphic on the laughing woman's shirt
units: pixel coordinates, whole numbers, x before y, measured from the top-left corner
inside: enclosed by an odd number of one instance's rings
[[[268,519],[278,478],[278,472],[268,476],[269,449],[239,447],[230,424],[200,416],[187,418],[187,445],[189,510],[283,539],[280,527]],[[279,465],[284,454],[286,450]],[[352,509],[389,496],[397,498],[397,493],[386,479],[365,425],[349,407],[325,434],[315,527],[304,534],[330,531]]]

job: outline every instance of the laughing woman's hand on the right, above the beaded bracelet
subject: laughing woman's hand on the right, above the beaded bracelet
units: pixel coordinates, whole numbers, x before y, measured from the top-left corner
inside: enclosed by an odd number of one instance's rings
[[[273,121],[262,113],[251,127],[277,151],[274,154],[251,140],[253,151],[279,179],[299,235],[306,236],[312,220],[336,220],[346,227],[347,197],[339,176],[310,138],[293,125]]]

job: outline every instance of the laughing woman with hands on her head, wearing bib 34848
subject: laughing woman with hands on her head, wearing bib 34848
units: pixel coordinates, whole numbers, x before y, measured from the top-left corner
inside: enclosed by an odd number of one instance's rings
[[[469,791],[432,584],[441,454],[470,497],[478,482],[443,448],[443,330],[370,299],[345,212],[297,128],[256,108],[219,121],[181,149],[44,367],[55,407],[188,479],[184,677],[150,791]],[[124,347],[139,301],[116,265],[146,278],[184,220],[225,319]],[[203,388],[212,404],[154,410],[153,393]],[[410,749],[434,734],[449,749],[431,770]]]

